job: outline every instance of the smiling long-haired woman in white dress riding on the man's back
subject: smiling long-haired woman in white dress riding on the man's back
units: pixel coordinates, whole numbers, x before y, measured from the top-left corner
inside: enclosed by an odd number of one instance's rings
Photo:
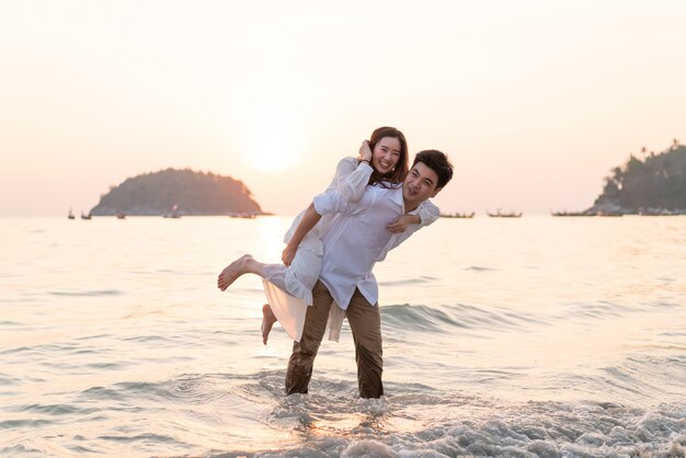
[[[408,173],[408,144],[404,135],[393,127],[379,127],[359,148],[359,158],[344,158],[339,162],[336,174],[327,191],[336,190],[348,202],[362,198],[365,186],[401,186]],[[245,273],[260,275],[270,304],[262,307],[262,341],[266,344],[274,322],[279,321],[288,335],[300,341],[307,307],[312,305],[312,288],[321,271],[321,234],[332,217],[324,216],[301,240],[293,239],[302,214],[298,215],[284,241],[282,264],[264,264],[245,254],[229,264],[217,279],[217,286],[226,290]],[[402,215],[390,222],[387,229],[402,232],[410,224],[430,225],[438,218],[438,208],[430,202],[423,203],[418,215]],[[342,310],[331,308],[330,339],[338,341],[343,322]]]

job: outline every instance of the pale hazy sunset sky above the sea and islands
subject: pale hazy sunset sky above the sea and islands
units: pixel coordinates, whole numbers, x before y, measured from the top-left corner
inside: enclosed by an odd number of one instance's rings
[[[295,215],[379,126],[448,154],[445,213],[590,207],[686,142],[684,1],[0,0],[0,216],[167,168]]]

